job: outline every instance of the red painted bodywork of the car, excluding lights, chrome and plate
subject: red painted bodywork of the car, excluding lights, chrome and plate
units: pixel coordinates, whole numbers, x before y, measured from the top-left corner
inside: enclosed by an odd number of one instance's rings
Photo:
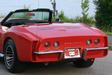
[[[77,23],[53,23],[13,26],[4,32],[0,27],[0,52],[3,52],[5,40],[11,38],[17,49],[20,61],[29,62],[54,62],[64,60],[64,54],[35,55],[34,51],[66,50],[67,48],[80,48],[81,56],[85,55],[86,48],[107,47],[107,36],[96,28]],[[100,39],[100,44],[95,45],[94,40]],[[91,45],[86,41],[92,40]],[[49,48],[44,47],[45,42],[50,42]],[[54,47],[58,41],[60,46]],[[90,51],[85,58],[99,58],[107,55],[107,50]]]

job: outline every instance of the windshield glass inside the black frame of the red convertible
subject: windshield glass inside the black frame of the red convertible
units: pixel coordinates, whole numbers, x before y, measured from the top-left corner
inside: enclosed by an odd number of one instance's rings
[[[49,20],[49,12],[17,12],[11,15],[11,17],[8,20],[12,19],[27,19],[27,20],[35,20],[35,21],[42,21],[47,22]],[[7,21],[8,21],[7,20]]]

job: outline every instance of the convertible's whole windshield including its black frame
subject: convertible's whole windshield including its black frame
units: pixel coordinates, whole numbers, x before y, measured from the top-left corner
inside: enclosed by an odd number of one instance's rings
[[[51,23],[52,11],[49,9],[20,9],[10,12],[1,22],[2,25],[11,27],[33,23]]]

